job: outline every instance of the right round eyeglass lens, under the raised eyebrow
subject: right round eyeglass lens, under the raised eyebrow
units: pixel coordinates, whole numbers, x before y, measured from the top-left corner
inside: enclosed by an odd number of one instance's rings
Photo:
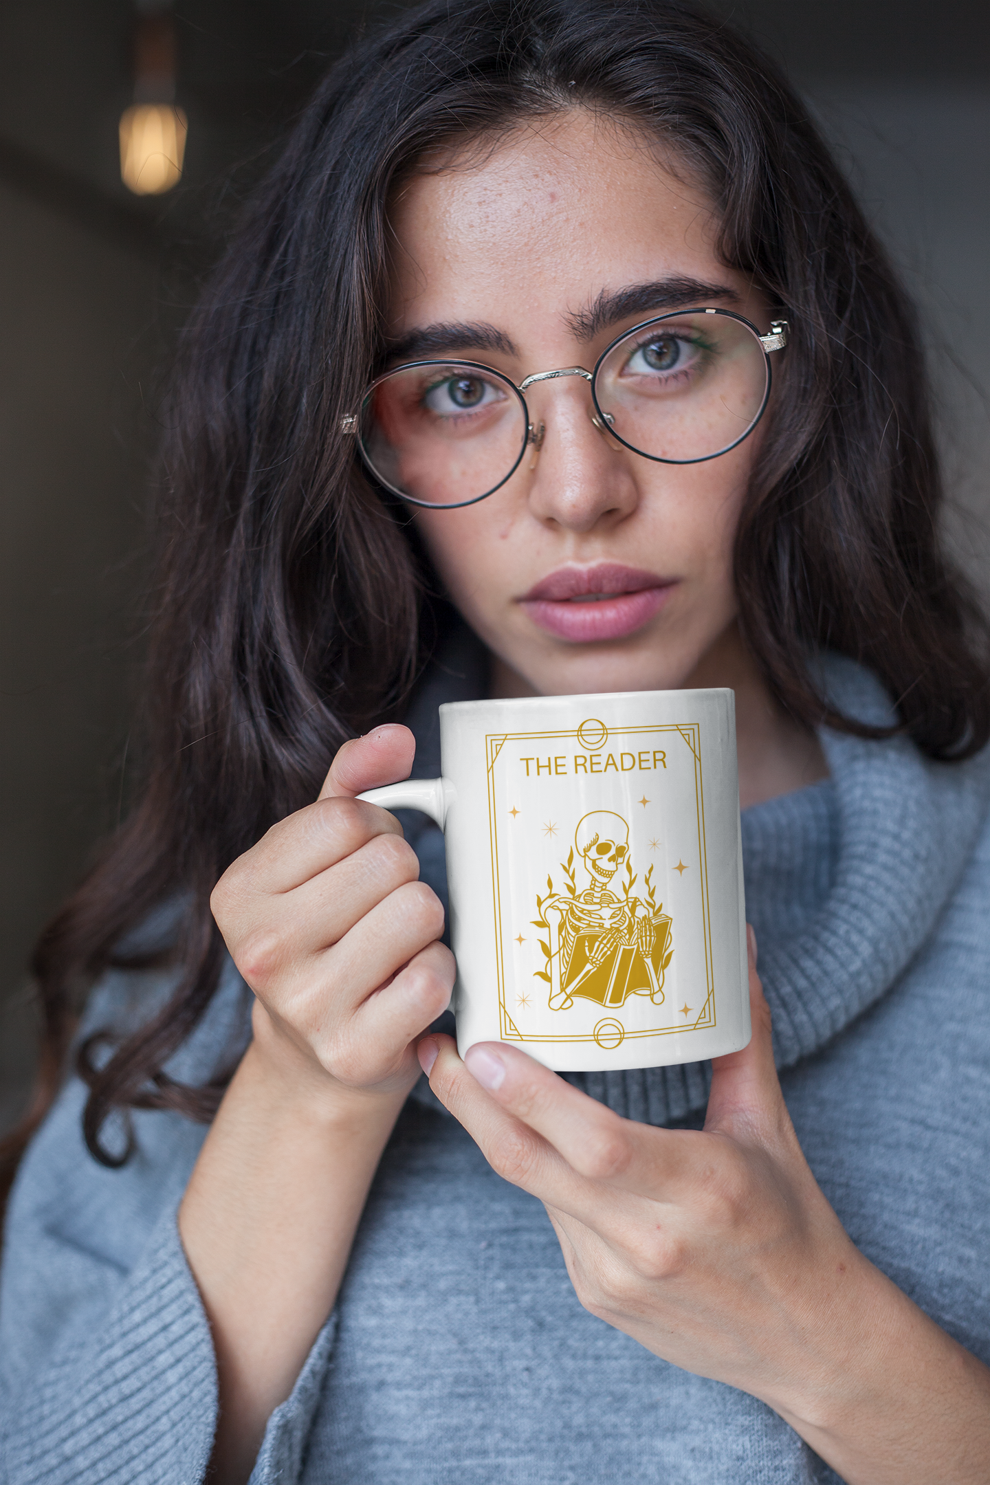
[[[637,453],[671,463],[712,459],[763,411],[767,362],[757,336],[729,315],[675,315],[619,340],[598,367],[609,428]]]

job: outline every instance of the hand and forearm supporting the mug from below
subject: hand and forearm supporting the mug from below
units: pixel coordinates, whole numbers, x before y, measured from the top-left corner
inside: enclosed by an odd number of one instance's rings
[[[635,1124],[500,1042],[430,1037],[430,1086],[543,1200],[577,1298],[656,1356],[761,1397],[850,1482],[986,1481],[990,1372],[853,1246],[794,1133],[750,930],[753,1041],[704,1132]]]

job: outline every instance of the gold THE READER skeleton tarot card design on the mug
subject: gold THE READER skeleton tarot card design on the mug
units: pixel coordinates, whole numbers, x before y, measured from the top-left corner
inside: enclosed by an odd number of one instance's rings
[[[502,1038],[714,1026],[699,723],[588,717],[485,751]]]

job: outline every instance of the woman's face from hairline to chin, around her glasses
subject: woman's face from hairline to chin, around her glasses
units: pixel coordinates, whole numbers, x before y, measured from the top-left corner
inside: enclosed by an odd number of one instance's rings
[[[769,330],[767,304],[715,257],[704,192],[588,113],[416,175],[392,226],[390,337],[430,331],[427,355],[484,361],[517,385],[591,370],[623,330],[678,304]],[[671,300],[671,281],[698,288]],[[435,327],[450,340],[438,345]],[[525,396],[546,426],[539,453],[478,505],[416,511],[453,601],[509,692],[690,683],[735,619],[733,536],[763,425],[717,459],[665,465],[595,428],[582,377]]]

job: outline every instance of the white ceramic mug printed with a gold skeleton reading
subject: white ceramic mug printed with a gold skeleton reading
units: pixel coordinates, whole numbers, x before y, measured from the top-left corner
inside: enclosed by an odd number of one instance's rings
[[[732,691],[460,701],[442,778],[361,794],[444,830],[463,1056],[656,1068],[750,1041]]]

